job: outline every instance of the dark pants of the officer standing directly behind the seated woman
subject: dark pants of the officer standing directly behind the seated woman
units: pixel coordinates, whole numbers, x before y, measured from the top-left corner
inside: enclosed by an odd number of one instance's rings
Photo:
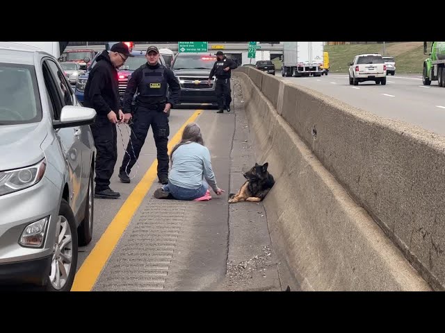
[[[120,172],[127,171],[127,174],[130,174],[131,168],[139,157],[140,150],[144,145],[145,138],[147,137],[151,125],[158,153],[158,178],[168,176],[167,144],[168,135],[170,135],[170,126],[168,126],[167,114],[163,112],[164,108],[165,104],[159,106],[154,105],[149,108],[138,105],[133,118],[133,123],[131,124],[131,142],[127,145],[127,152],[130,156],[125,153]],[[131,147],[131,143],[133,144],[133,147]]]

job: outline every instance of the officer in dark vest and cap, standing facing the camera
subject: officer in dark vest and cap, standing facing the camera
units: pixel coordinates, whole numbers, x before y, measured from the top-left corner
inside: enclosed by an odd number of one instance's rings
[[[124,112],[130,112],[131,101],[136,96],[136,111],[131,124],[131,142],[128,143],[127,152],[119,169],[121,182],[130,182],[131,168],[139,157],[147,137],[150,125],[153,130],[154,142],[158,153],[158,178],[161,184],[168,184],[168,112],[179,100],[181,86],[171,69],[159,63],[159,50],[156,46],[148,46],[145,54],[147,63],[136,69],[124,94]],[[168,96],[170,89],[170,96]],[[133,155],[134,150],[134,155]]]

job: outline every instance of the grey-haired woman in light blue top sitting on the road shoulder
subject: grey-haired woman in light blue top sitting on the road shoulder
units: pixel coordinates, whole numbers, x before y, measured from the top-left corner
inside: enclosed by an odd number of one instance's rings
[[[194,200],[206,195],[209,185],[218,196],[224,192],[216,185],[209,149],[204,146],[200,126],[196,123],[184,128],[181,142],[173,148],[170,160],[172,170],[168,184],[154,191],[155,198]]]

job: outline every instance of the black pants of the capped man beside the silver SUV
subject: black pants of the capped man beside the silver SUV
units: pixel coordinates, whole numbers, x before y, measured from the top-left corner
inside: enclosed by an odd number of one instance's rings
[[[109,188],[110,178],[118,159],[116,126],[107,117],[97,117],[90,127],[96,147],[95,191],[103,191]]]

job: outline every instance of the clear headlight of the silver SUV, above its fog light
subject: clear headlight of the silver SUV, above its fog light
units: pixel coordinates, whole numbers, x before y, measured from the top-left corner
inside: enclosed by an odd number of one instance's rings
[[[47,159],[23,169],[0,171],[0,196],[33,186],[43,178]]]

